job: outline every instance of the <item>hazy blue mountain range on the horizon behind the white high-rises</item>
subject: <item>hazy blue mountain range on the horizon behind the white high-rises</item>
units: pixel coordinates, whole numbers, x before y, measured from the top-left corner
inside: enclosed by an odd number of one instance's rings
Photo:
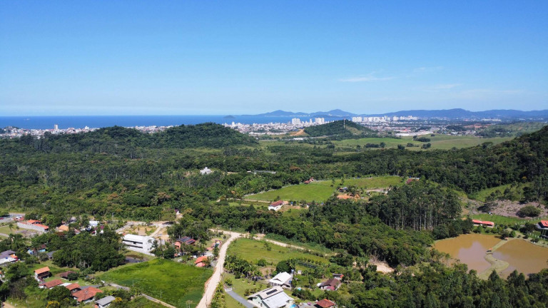
[[[251,115],[245,115],[251,116]],[[272,111],[270,113],[261,113],[253,116],[330,116],[330,117],[352,117],[358,116],[356,113],[334,109],[332,111],[316,111],[313,113],[291,112],[291,111]],[[440,110],[410,110],[395,111],[391,113],[360,114],[359,116],[416,116],[419,118],[447,118],[447,119],[482,119],[482,118],[504,118],[504,119],[547,119],[548,109],[542,111],[518,111],[508,110],[489,110],[489,111],[467,111],[462,108],[440,109]]]

